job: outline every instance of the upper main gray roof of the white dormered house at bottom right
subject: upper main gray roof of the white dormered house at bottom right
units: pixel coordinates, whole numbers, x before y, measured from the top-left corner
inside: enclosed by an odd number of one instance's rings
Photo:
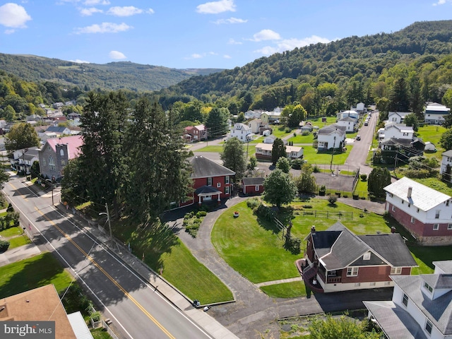
[[[424,284],[421,275],[391,275],[391,279],[441,333],[452,335],[452,290],[430,300],[421,290]]]

